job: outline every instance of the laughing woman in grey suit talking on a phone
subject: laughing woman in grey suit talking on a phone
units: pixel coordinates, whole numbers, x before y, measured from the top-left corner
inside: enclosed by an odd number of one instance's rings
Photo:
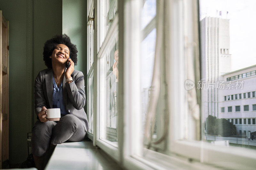
[[[45,42],[43,55],[48,69],[39,71],[35,80],[35,110],[39,120],[32,129],[31,141],[39,170],[44,168],[46,151],[65,141],[82,141],[89,127],[83,108],[86,103],[84,75],[74,70],[76,45],[66,34],[56,35]],[[44,112],[47,108],[60,108],[60,121],[48,121]]]

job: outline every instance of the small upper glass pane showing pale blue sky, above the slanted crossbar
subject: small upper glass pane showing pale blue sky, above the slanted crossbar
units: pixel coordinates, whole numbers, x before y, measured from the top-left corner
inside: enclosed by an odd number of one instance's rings
[[[141,29],[144,29],[156,16],[156,0],[143,0],[141,12]]]

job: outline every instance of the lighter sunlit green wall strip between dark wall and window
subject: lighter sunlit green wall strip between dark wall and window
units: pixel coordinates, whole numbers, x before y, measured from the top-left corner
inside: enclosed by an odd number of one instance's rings
[[[87,1],[62,0],[62,33],[67,34],[71,42],[76,44],[78,60],[75,70],[84,73],[87,96]],[[84,110],[86,112],[86,105]]]

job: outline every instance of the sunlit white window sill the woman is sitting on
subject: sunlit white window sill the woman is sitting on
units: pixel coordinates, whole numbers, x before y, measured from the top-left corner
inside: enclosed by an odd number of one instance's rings
[[[57,144],[45,169],[123,169],[91,141]]]

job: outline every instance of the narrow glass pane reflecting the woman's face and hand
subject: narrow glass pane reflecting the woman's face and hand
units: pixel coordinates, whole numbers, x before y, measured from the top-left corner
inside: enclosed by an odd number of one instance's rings
[[[100,58],[100,138],[117,146],[117,86],[118,86],[118,40],[109,43],[105,55]]]

